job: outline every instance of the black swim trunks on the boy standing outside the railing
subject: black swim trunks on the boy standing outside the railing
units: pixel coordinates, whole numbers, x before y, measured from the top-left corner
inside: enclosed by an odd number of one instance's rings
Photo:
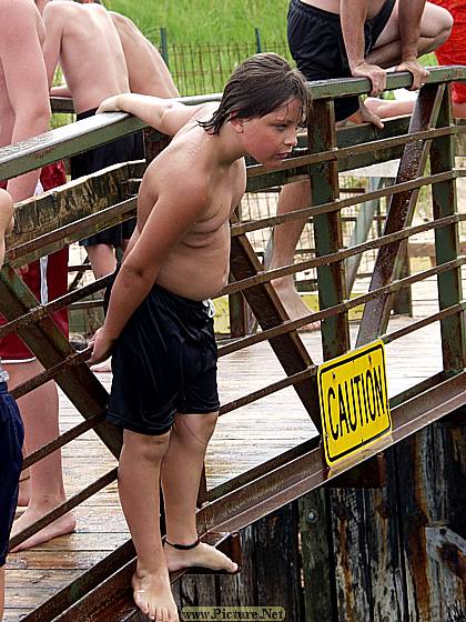
[[[176,413],[219,410],[211,304],[152,288],[115,343],[108,421],[156,435]]]

